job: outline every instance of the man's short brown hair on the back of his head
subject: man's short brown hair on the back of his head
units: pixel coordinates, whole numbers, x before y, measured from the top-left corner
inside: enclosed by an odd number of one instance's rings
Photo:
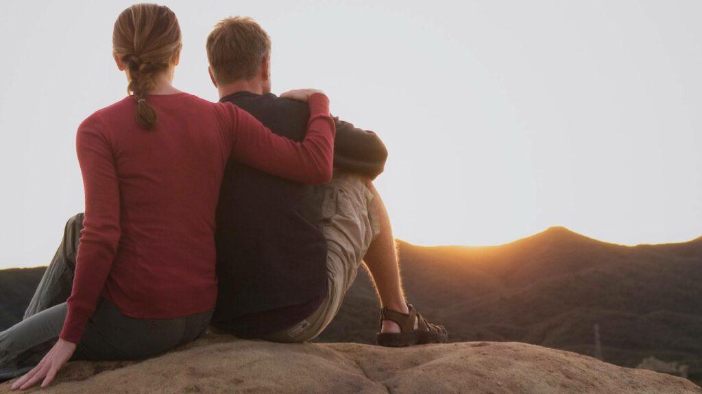
[[[207,36],[207,60],[220,85],[253,78],[269,53],[270,37],[251,18],[220,20]]]

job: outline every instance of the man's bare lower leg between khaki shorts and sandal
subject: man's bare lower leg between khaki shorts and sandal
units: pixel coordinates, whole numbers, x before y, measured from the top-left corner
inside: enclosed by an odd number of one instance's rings
[[[380,198],[370,179],[366,182],[366,186],[373,193],[373,203],[378,207],[380,234],[369,246],[363,261],[373,278],[378,298],[380,298],[380,306],[392,311],[409,313],[402,290],[397,247],[395,238],[392,236],[388,210],[385,209],[383,199]],[[400,332],[399,325],[391,320],[383,320],[380,332]]]

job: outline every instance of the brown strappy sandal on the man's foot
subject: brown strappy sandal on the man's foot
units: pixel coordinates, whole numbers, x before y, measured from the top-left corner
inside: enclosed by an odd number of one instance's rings
[[[380,310],[380,325],[383,325],[383,320],[391,320],[399,325],[400,332],[378,332],[376,334],[376,344],[402,347],[421,344],[442,344],[449,339],[446,327],[433,325],[423,318],[412,304],[407,304],[407,306],[409,307],[409,313],[391,311],[388,308]],[[415,321],[417,322],[416,329],[414,328]]]

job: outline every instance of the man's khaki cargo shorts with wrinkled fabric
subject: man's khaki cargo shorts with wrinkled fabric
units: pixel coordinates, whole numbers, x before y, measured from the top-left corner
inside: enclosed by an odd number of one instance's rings
[[[266,335],[268,341],[305,342],[321,334],[341,308],[366,251],[380,233],[378,207],[361,177],[335,172],[323,187],[328,295],[312,315],[293,327]]]

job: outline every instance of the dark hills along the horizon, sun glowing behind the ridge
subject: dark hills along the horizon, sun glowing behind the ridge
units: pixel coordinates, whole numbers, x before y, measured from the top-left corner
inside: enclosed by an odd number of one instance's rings
[[[605,361],[635,367],[655,356],[689,365],[690,379],[702,381],[702,238],[628,247],[553,227],[500,246],[400,242],[399,250],[409,301],[446,325],[451,341],[594,355],[598,324]],[[21,318],[41,271],[0,271],[0,330]],[[368,344],[377,330],[378,301],[359,273],[318,341]]]

